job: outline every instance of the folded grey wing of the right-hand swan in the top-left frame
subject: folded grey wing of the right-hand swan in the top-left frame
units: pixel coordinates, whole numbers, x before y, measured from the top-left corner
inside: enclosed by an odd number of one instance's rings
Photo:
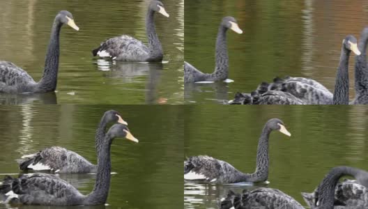
[[[97,54],[118,61],[146,61],[150,50],[143,42],[131,36],[118,36],[102,42]]]

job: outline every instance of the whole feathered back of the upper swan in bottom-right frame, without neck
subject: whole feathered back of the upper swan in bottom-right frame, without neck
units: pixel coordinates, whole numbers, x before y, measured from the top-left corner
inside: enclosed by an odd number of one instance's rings
[[[231,164],[213,157],[199,155],[188,158],[184,162],[184,179],[186,176],[204,176],[198,180],[216,183],[235,183],[241,172],[235,169]],[[189,179],[187,180],[194,180]]]

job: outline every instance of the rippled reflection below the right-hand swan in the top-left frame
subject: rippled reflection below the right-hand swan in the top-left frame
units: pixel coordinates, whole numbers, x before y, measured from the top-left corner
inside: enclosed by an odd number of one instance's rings
[[[156,98],[156,87],[160,83],[163,63],[119,62],[105,59],[97,60],[98,70],[105,71],[105,77],[121,79],[124,83],[144,84],[144,89],[124,88],[129,91],[146,91],[146,104],[162,104],[166,98]]]

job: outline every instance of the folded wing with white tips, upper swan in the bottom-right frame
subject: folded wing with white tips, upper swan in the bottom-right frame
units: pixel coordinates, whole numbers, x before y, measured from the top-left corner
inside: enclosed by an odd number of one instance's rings
[[[222,175],[220,160],[209,156],[193,156],[184,162],[185,180],[217,180]]]

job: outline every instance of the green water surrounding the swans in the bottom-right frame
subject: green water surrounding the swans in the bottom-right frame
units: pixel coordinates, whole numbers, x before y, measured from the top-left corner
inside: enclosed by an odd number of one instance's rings
[[[332,167],[368,169],[367,107],[185,108],[185,157],[210,155],[252,173],[263,125],[280,118],[291,137],[270,134],[269,187],[280,189],[305,206],[300,192],[312,192]],[[184,183],[184,208],[217,208],[229,189],[247,185]]]

